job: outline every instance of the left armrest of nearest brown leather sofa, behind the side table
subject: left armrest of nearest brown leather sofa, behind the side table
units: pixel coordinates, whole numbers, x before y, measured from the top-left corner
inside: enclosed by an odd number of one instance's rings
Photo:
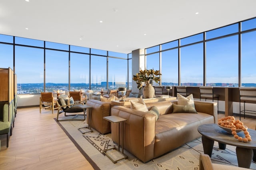
[[[124,149],[143,162],[151,160],[154,157],[155,115],[124,106],[112,107],[111,115],[127,119],[124,122]],[[111,133],[112,140],[118,142],[118,126],[114,123]]]

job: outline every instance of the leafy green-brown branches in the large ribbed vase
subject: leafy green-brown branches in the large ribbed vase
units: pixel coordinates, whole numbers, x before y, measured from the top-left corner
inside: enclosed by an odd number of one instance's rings
[[[152,81],[160,84],[160,70],[140,70],[136,75],[133,75],[132,80],[136,81],[136,84],[138,84],[137,88],[141,89],[143,84],[149,84],[152,83]]]

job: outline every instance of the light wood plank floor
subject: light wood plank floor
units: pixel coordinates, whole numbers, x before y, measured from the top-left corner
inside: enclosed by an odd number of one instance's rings
[[[0,136],[0,169],[93,170],[53,119],[56,113],[42,109],[40,114],[39,107],[18,109],[8,149],[6,136]],[[241,121],[255,129],[255,119],[241,118]]]

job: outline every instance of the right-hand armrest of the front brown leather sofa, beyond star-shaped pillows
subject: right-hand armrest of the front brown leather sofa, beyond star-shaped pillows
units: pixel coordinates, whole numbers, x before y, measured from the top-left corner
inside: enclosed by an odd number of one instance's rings
[[[194,104],[197,112],[213,115],[214,123],[218,123],[218,105],[216,102],[194,100]]]

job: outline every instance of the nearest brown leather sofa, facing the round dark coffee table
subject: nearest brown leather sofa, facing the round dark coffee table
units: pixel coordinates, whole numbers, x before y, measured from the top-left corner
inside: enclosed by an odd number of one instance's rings
[[[173,102],[177,104],[177,102]],[[127,119],[124,123],[124,149],[147,162],[200,137],[197,128],[217,123],[217,103],[194,101],[196,113],[172,113],[172,102],[146,103],[158,107],[155,115],[124,106],[112,107],[111,115]],[[112,140],[118,142],[117,125],[112,123]],[[122,140],[122,139],[121,139]]]

